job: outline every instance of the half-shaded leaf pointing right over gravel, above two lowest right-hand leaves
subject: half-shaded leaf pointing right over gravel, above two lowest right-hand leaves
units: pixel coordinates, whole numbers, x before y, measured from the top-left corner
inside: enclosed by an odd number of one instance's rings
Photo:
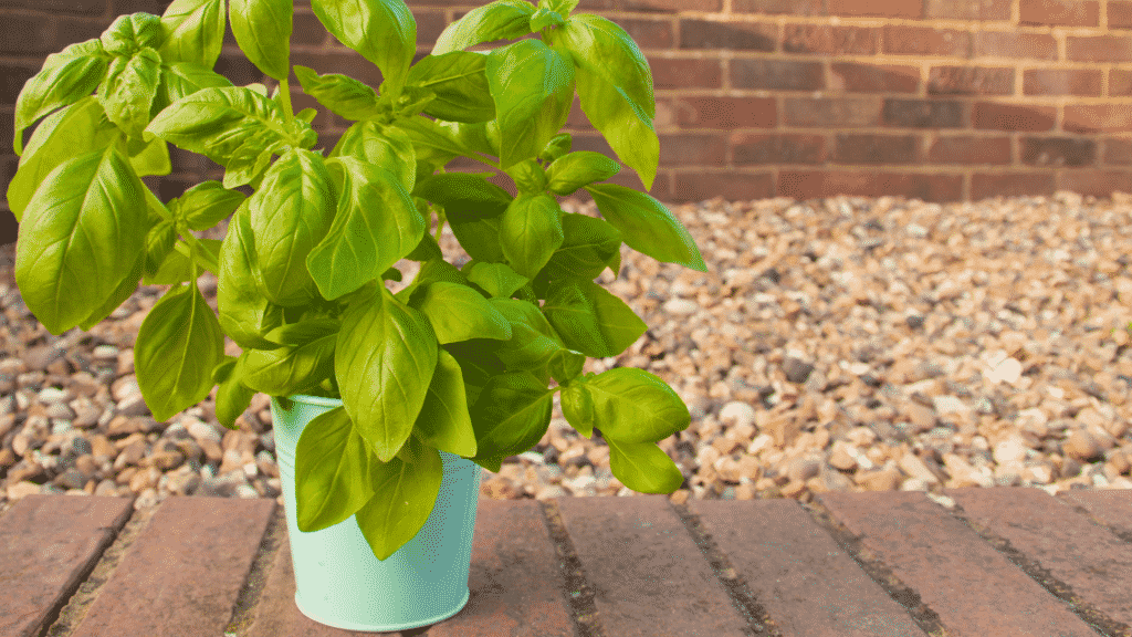
[[[619,355],[649,329],[624,300],[585,279],[560,281],[542,313],[566,347],[592,358]]]

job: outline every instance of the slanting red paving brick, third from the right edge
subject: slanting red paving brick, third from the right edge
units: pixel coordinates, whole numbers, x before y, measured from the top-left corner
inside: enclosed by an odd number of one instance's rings
[[[817,496],[860,545],[916,591],[955,635],[1091,636],[1056,602],[967,525],[920,492]]]

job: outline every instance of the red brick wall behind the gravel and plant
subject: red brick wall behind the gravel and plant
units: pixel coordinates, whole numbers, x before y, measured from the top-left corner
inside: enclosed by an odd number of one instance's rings
[[[480,3],[410,1],[418,59]],[[292,63],[380,83],[297,5]],[[48,53],[165,6],[0,0],[3,148],[16,95]],[[621,25],[649,59],[660,135],[651,194],[663,202],[1132,190],[1130,0],[582,0],[577,10]],[[231,32],[216,70],[235,84],[265,79]],[[295,93],[297,111],[314,105]],[[315,122],[326,148],[348,124],[323,109]],[[577,99],[568,127],[574,150],[611,153]],[[16,164],[0,156],[3,184]],[[173,165],[147,179],[162,198],[221,175],[175,148]],[[627,168],[614,181],[641,187]]]

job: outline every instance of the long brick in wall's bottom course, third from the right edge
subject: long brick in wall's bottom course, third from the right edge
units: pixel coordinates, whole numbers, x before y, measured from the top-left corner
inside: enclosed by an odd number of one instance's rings
[[[963,178],[959,175],[882,172],[877,170],[780,170],[780,197],[809,199],[851,195],[884,195],[919,198],[926,202],[957,202],[963,198]]]

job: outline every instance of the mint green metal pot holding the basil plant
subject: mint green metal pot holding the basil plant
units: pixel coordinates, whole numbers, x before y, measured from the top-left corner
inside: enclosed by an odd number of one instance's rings
[[[379,561],[353,516],[314,533],[295,521],[294,450],[302,428],[341,400],[272,398],[275,455],[283,483],[294,603],[310,619],[346,630],[392,631],[448,619],[468,603],[468,572],[482,468],[440,451],[444,481],[428,521],[408,544]]]

